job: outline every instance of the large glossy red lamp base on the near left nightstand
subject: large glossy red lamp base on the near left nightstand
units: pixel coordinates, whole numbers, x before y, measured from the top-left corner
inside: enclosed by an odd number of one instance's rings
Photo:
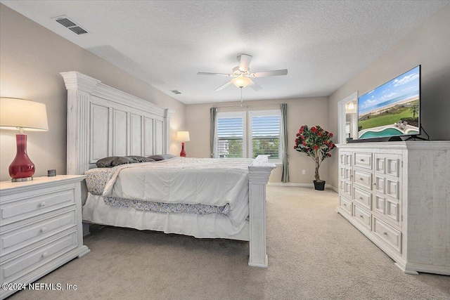
[[[27,155],[27,135],[16,134],[15,142],[17,143],[17,153],[9,165],[11,181],[31,181],[33,180],[34,164]]]

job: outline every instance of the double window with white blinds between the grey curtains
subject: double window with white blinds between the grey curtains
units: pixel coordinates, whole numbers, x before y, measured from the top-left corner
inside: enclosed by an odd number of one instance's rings
[[[270,155],[272,162],[281,162],[280,110],[218,112],[216,128],[216,157]]]

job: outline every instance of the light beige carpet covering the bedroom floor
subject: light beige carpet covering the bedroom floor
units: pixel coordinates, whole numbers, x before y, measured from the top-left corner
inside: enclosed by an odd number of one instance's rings
[[[450,299],[450,276],[406,275],[340,214],[333,190],[267,187],[269,268],[248,266],[248,242],[91,226],[91,253],[19,299]]]

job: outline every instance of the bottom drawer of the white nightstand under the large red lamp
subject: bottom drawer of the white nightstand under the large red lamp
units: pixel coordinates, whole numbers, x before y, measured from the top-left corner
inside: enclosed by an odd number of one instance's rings
[[[69,252],[77,247],[77,232],[72,231],[63,237],[53,240],[41,247],[26,252],[20,256],[15,256],[4,263],[1,263],[0,281],[14,282],[23,275],[31,273],[33,270],[44,266],[49,261]]]

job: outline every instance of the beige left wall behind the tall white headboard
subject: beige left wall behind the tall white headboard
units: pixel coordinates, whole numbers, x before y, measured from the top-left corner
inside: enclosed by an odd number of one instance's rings
[[[180,151],[176,131],[185,127],[186,105],[136,79],[89,51],[72,44],[0,4],[0,96],[45,103],[48,132],[27,132],[27,150],[35,176],[48,169],[66,171],[67,91],[60,72],[78,71],[139,98],[174,110],[170,152]],[[15,157],[15,131],[0,131],[0,181],[9,180]]]

